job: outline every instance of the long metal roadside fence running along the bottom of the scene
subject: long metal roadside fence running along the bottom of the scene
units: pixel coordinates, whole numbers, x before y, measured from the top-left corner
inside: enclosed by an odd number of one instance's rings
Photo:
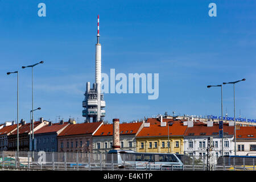
[[[122,159],[126,159],[121,154]],[[59,171],[255,171],[254,158],[219,157],[207,160],[206,156],[179,155],[183,165],[156,164],[144,162],[122,164],[117,162],[117,154],[92,154],[73,152],[15,152],[0,151],[1,170],[59,170]]]

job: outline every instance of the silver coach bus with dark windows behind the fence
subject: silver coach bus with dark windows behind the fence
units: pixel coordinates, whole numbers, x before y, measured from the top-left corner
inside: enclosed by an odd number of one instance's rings
[[[118,164],[118,168],[182,169],[183,163],[175,154],[110,150],[106,163]]]

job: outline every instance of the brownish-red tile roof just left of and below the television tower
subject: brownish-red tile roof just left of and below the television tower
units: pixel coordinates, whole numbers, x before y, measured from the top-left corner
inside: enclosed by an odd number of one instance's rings
[[[68,125],[58,136],[92,134],[102,122],[78,123]]]

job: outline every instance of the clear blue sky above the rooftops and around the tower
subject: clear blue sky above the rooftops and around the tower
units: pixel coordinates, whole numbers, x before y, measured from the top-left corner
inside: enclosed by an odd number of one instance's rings
[[[38,4],[46,4],[46,17]],[[208,15],[209,3],[217,16]],[[105,94],[106,117],[132,121],[154,114],[217,115],[220,88],[236,81],[236,113],[256,119],[255,1],[14,1],[0,0],[0,122],[29,121],[31,69],[35,118],[57,116],[83,122],[86,82],[94,82],[97,14],[100,14],[102,72],[159,73],[159,98]],[[233,116],[233,86],[223,87],[223,110]]]

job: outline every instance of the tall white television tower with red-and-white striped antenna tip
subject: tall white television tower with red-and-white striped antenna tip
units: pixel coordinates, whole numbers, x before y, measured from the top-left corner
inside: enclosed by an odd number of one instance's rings
[[[100,17],[98,15],[98,33],[97,43],[95,48],[95,83],[93,88],[90,88],[90,82],[86,83],[85,99],[82,101],[82,116],[85,117],[85,122],[100,122],[105,116],[104,108],[106,103],[104,95],[101,93],[101,44],[100,44]]]

